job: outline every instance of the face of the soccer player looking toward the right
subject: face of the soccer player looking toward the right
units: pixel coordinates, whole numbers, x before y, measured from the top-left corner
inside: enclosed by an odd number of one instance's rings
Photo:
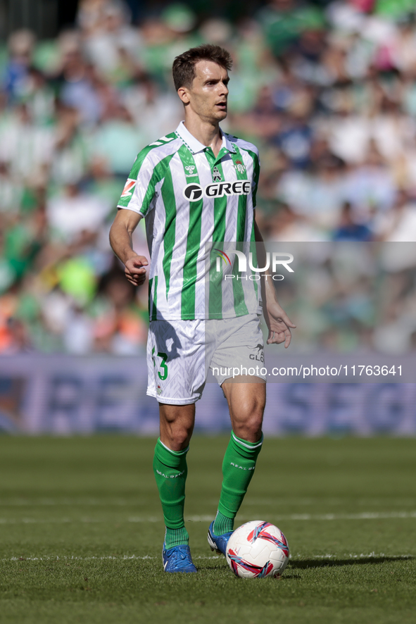
[[[198,117],[219,122],[227,117],[228,72],[213,61],[198,61],[191,89],[184,89],[184,101]]]

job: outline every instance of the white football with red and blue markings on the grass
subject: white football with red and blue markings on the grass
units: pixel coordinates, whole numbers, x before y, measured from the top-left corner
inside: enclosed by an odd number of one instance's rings
[[[289,546],[275,525],[251,520],[229,538],[226,557],[229,567],[240,578],[279,578],[289,561]]]

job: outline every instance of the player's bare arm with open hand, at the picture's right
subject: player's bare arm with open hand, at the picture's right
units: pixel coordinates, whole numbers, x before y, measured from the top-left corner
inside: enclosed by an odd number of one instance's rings
[[[254,211],[253,219],[255,240],[256,243],[258,243],[256,247],[258,252],[259,266],[265,266],[266,252],[263,237],[256,223],[256,211]],[[270,275],[268,271],[265,271],[265,273],[260,273],[260,275],[262,275],[261,294],[264,301],[263,314],[265,317],[267,328],[269,330],[267,344],[280,344],[281,342],[284,342],[284,347],[285,349],[287,349],[291,341],[291,328],[294,329],[296,325],[291,322],[289,316],[287,316],[286,312],[279,304],[279,301],[277,301],[272,275]]]

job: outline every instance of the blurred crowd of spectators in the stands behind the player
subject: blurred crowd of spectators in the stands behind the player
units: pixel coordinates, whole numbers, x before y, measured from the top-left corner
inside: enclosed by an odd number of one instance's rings
[[[415,242],[414,8],[271,0],[231,23],[170,4],[132,23],[122,0],[80,0],[56,39],[13,32],[0,47],[0,354],[144,352],[146,285],[125,280],[108,230],[137,152],[182,118],[173,58],[203,42],[234,58],[223,127],[260,149],[265,239]],[[146,254],[142,223],[134,236]],[[382,348],[374,327],[404,323],[411,349],[415,264],[387,263],[379,308],[370,273],[341,284],[322,259],[321,288],[299,282],[319,308],[304,344]]]

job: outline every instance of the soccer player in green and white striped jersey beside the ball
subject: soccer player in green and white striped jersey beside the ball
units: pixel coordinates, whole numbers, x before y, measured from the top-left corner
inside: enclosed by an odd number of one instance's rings
[[[166,526],[166,572],[197,571],[184,525],[184,499],[195,403],[208,366],[228,401],[232,423],[218,512],[208,529],[211,549],[225,554],[262,447],[265,408],[265,375],[257,375],[257,369],[254,376],[232,379],[229,367],[245,372],[253,359],[264,361],[260,290],[267,344],[289,347],[295,327],[279,306],[268,273],[262,274],[261,287],[247,275],[244,281],[222,245],[234,242],[238,251],[236,242],[263,242],[255,220],[258,150],[219,125],[227,116],[231,67],[229,53],[210,44],[175,58],[173,80],[184,122],[140,151],[111,227],[111,246],[125,264],[127,280],[140,285],[149,262],[132,248],[132,232],[146,219],[151,255],[147,394],[158,400],[160,412],[153,469]],[[207,264],[207,244],[229,261],[229,280]],[[238,256],[234,252],[234,261]],[[233,279],[234,273],[241,279]]]

